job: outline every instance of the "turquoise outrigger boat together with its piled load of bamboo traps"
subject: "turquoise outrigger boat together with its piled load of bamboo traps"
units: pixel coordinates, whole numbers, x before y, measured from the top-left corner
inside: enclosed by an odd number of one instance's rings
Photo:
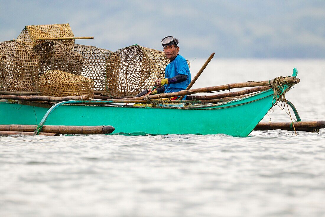
[[[214,56],[212,53],[188,89],[136,97],[137,91],[164,78],[169,61],[165,54],[138,45],[112,52],[74,43],[75,39],[85,38],[93,37],[74,37],[65,23],[26,26],[17,39],[0,42],[0,131],[14,124],[24,125],[13,128],[32,130],[33,135],[83,129],[90,132],[89,126],[97,126],[101,130],[93,133],[245,137],[272,106],[287,102],[285,93],[299,83],[294,68],[288,77],[191,89]],[[253,88],[195,95],[241,87]],[[184,95],[186,100],[182,99]],[[69,131],[45,132],[49,126],[69,126]],[[84,127],[70,131],[71,126]]]

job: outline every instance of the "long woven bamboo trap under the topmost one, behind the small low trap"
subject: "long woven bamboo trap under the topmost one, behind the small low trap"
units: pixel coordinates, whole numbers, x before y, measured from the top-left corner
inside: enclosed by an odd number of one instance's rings
[[[94,81],[95,91],[104,91],[106,59],[112,51],[58,41],[39,44],[34,51],[41,57],[40,74],[56,69],[81,75]]]

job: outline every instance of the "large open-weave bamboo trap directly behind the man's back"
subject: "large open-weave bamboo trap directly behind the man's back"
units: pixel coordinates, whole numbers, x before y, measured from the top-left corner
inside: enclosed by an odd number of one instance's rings
[[[133,45],[107,59],[106,92],[111,96],[136,95],[165,76],[169,63],[164,52]]]

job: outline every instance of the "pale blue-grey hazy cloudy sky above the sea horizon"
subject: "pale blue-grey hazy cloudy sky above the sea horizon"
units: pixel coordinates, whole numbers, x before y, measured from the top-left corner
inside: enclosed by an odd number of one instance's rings
[[[70,23],[78,44],[116,51],[133,44],[162,50],[179,39],[187,59],[325,58],[325,0],[8,1],[0,0],[0,41],[26,25]]]

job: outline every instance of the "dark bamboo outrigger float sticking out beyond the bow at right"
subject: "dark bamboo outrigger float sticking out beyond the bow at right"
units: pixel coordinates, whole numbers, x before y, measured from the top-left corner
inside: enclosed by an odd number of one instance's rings
[[[299,121],[293,122],[296,131],[311,132],[322,128],[325,128],[325,121]],[[288,130],[293,131],[291,122],[270,122],[270,123],[258,123],[254,130]]]

